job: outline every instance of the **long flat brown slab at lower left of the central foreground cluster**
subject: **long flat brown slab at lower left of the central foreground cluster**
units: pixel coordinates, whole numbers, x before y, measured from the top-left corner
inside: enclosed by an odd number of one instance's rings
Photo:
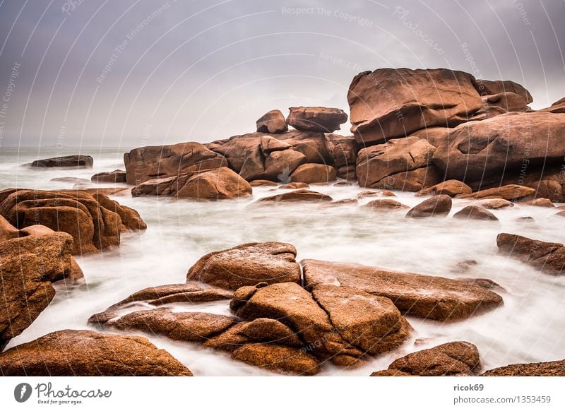
[[[234,318],[199,312],[174,312],[167,308],[133,311],[105,326],[117,330],[141,331],[171,340],[204,342],[235,323]]]

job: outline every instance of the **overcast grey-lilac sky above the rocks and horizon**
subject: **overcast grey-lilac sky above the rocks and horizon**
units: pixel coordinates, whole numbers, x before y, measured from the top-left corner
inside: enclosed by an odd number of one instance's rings
[[[446,67],[565,96],[565,1],[0,0],[0,150],[208,142]],[[343,134],[349,134],[344,124]]]

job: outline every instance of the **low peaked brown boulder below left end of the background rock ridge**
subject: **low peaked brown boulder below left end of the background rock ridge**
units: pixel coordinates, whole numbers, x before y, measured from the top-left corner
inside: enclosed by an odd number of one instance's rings
[[[226,200],[251,196],[253,189],[227,167],[168,179],[155,179],[131,189],[132,196],[174,196],[198,200]]]

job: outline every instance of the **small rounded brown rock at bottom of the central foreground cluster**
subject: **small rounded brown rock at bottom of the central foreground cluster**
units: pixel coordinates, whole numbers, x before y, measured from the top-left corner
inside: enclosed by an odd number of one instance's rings
[[[297,375],[318,374],[316,358],[303,350],[276,344],[246,344],[238,348],[233,359],[268,371]]]

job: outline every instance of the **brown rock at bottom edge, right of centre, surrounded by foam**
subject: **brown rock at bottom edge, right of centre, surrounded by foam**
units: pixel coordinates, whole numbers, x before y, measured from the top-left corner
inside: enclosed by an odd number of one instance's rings
[[[412,352],[388,366],[388,370],[412,376],[470,376],[477,374],[480,368],[477,347],[465,341]]]

